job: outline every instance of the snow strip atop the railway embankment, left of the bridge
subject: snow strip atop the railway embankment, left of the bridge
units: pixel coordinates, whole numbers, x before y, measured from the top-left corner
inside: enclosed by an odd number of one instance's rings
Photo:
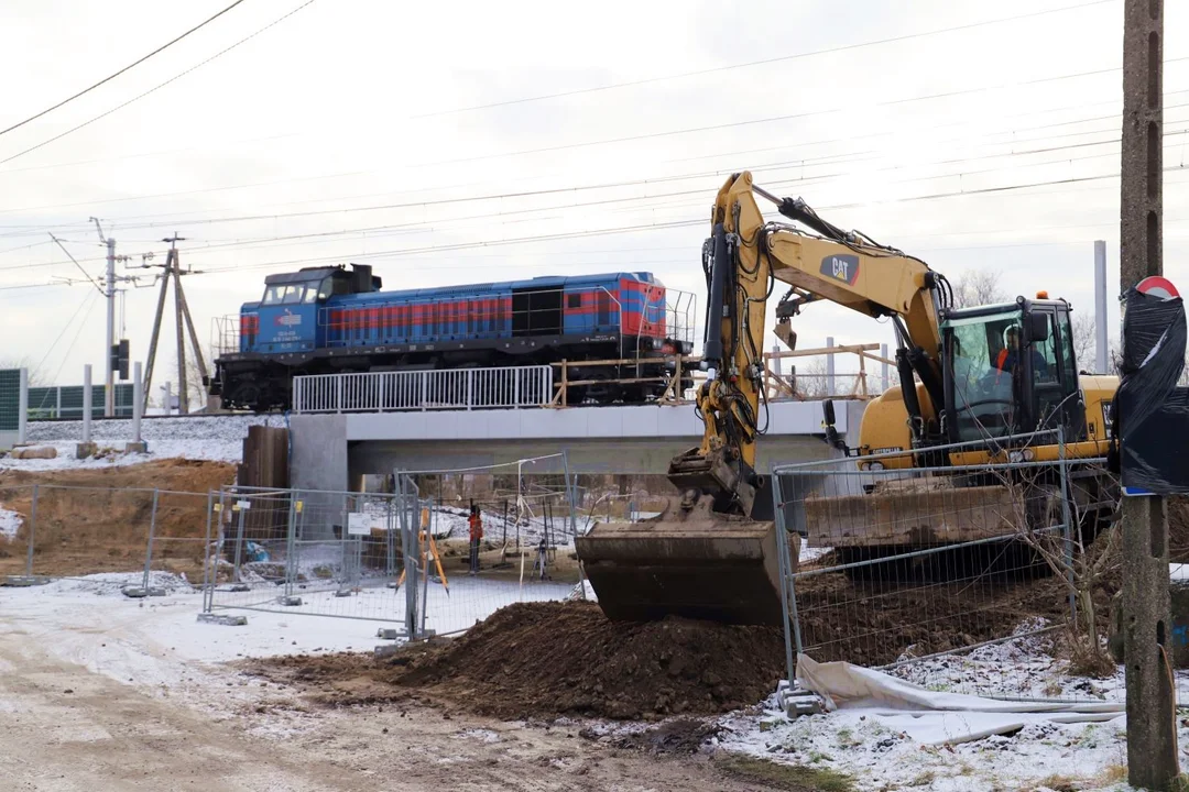
[[[55,460],[13,460],[0,457],[0,468],[21,470],[62,470],[65,468],[106,468],[113,464],[138,464],[151,460],[181,457],[215,462],[239,462],[249,426],[284,426],[284,416],[209,416],[196,418],[153,418],[140,422],[140,436],[149,444],[147,454],[124,454],[133,441],[132,420],[95,420],[92,441],[100,449],[119,451],[102,458],[76,460],[75,445],[82,441],[81,420],[38,420],[29,424],[29,442],[52,446]]]

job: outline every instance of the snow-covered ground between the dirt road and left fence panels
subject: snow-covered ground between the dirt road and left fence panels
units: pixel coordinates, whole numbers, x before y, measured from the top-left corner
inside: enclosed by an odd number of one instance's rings
[[[234,707],[228,704],[254,701],[249,686],[263,684],[227,667],[226,661],[297,653],[370,652],[389,642],[377,638],[377,629],[391,627],[394,615],[403,617],[395,610],[403,606],[403,589],[400,596],[380,589],[373,595],[375,603],[380,606],[371,610],[376,620],[309,615],[308,608],[284,613],[216,608],[216,614],[247,616],[246,626],[231,627],[197,621],[202,594],[184,578],[153,572],[151,584],[164,588],[165,596],[133,600],[120,594],[126,585],[140,584],[141,572],[127,572],[57,579],[30,588],[0,588],[0,634],[36,644],[61,660],[77,663],[153,696],[181,699],[212,717],[225,718],[234,717]],[[256,596],[266,588],[276,590],[268,584],[253,587]],[[571,588],[464,578],[451,581],[451,595],[446,596],[441,585],[430,583],[427,626],[439,632],[465,628],[504,604],[560,600]],[[298,594],[315,606],[334,603],[341,615],[351,615],[342,609],[352,604],[356,613],[364,613],[359,610],[363,593],[344,598],[334,597],[333,591]],[[226,596],[216,594],[216,604]],[[258,607],[275,608],[276,602]],[[281,734],[303,717],[310,716],[294,712],[269,728]]]

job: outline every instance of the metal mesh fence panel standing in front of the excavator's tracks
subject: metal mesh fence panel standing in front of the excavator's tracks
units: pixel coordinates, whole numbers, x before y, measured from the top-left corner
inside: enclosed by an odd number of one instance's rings
[[[1077,696],[1063,686],[1064,664],[1040,650],[1076,616],[1075,557],[1103,526],[1062,498],[1074,493],[1069,470],[1101,461],[1002,458],[912,468],[901,454],[863,457],[867,469],[854,458],[776,469],[789,674],[805,653],[935,690]]]

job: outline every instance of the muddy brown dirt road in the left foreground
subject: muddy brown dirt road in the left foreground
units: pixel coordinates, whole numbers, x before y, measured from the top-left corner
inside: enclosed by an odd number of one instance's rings
[[[231,670],[195,670],[207,689],[196,707],[182,701],[193,689],[183,697],[124,684],[55,659],[43,648],[54,638],[36,628],[8,627],[0,634],[0,778],[8,790],[770,788],[724,775],[704,756],[609,747],[578,727],[427,708],[314,709],[292,689]],[[235,696],[222,695],[228,686]]]

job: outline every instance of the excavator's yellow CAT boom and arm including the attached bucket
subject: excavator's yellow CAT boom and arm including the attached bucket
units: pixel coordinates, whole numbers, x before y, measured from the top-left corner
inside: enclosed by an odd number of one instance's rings
[[[756,195],[813,233],[766,222]],[[901,380],[912,382],[916,374],[925,388],[924,401],[916,387],[905,399],[913,431],[923,436],[942,399],[935,291],[944,294],[944,279],[919,259],[831,226],[804,202],[755,188],[748,172],[718,191],[703,270],[706,380],[697,404],[705,432],[699,446],[669,465],[681,495],[654,520],[596,525],[577,539],[578,556],[611,619],[775,623],[781,606],[773,505],[766,476],[756,471],[756,442],[767,430],[765,319],[775,284],[789,287],[776,309],[776,335],[789,347],[789,317],[813,300],[892,318],[904,342]],[[795,552],[789,562],[795,565]]]

